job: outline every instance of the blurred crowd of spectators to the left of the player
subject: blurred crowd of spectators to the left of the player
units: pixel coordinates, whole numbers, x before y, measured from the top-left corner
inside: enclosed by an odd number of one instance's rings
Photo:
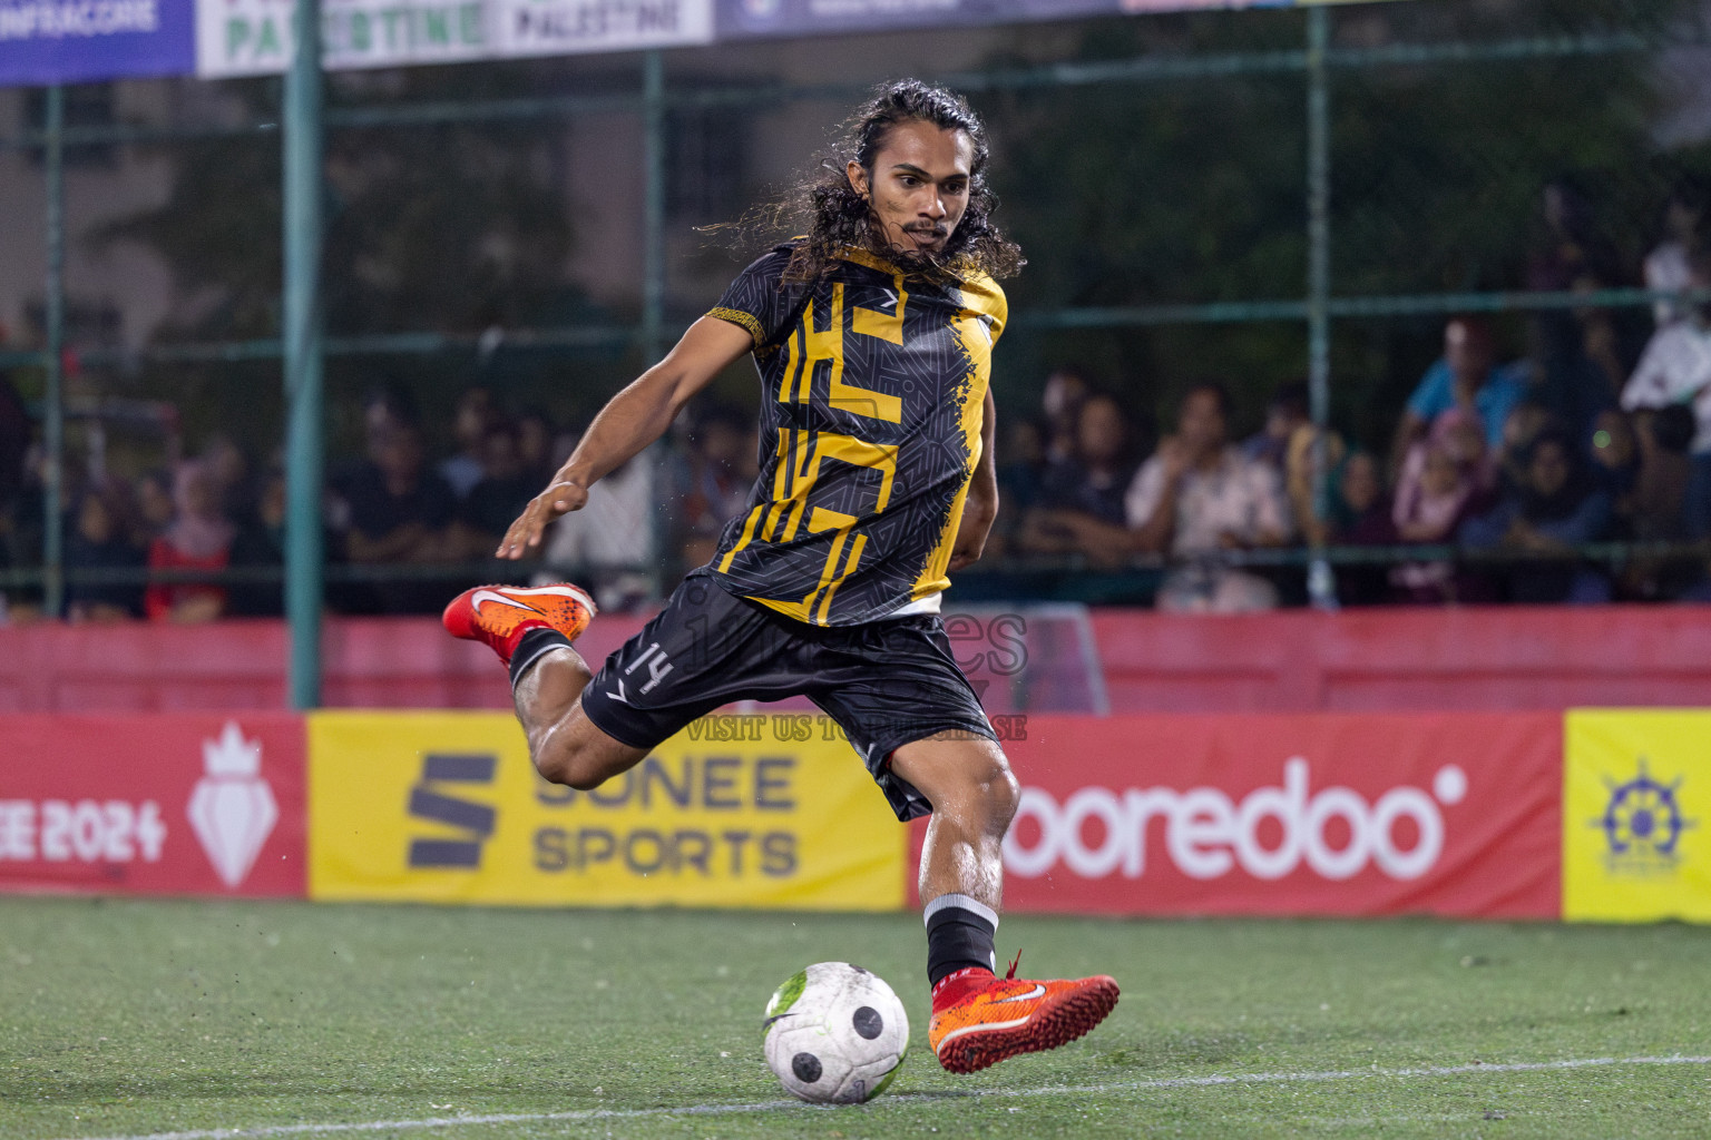
[[[505,412],[488,388],[459,397],[441,432],[453,446],[440,458],[429,455],[407,391],[375,390],[361,412],[361,455],[329,467],[320,513],[332,567],[327,603],[340,614],[436,612],[483,578],[474,567],[493,557],[578,439],[541,410]],[[0,434],[9,424],[21,426],[7,453],[19,461],[0,477],[0,567],[36,566],[41,448],[29,443],[15,393],[0,385]],[[669,576],[707,561],[755,475],[753,417],[698,407],[669,444],[602,479],[585,509],[548,532],[537,576],[573,576],[614,610],[650,602]],[[216,434],[195,456],[133,479],[67,477],[67,619],[200,622],[282,612],[287,496],[277,455],[258,468]],[[147,583],[144,571],[152,573]],[[7,593],[12,619],[39,610],[39,590]]]

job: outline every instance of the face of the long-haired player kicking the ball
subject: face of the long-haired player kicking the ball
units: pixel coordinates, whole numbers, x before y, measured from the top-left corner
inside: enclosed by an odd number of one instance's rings
[[[849,179],[873,202],[886,244],[941,253],[968,209],[972,161],[968,135],[910,120],[886,133],[871,171],[850,162]]]

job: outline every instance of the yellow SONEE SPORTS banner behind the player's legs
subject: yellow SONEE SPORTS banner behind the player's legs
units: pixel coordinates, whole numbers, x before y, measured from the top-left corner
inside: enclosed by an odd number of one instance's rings
[[[708,716],[573,791],[505,713],[311,713],[310,897],[900,909],[907,829],[828,723]]]

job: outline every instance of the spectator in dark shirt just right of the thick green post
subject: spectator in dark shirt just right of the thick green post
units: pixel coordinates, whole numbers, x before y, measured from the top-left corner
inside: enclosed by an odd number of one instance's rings
[[[366,566],[443,562],[455,557],[450,533],[457,514],[452,489],[426,465],[421,432],[411,424],[382,426],[370,439],[370,460],[342,487],[349,528],[346,555]],[[383,581],[373,588],[385,614],[428,614],[443,585]]]

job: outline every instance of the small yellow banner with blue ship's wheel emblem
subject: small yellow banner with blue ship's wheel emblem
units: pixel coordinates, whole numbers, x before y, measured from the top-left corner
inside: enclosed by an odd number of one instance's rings
[[[1711,921],[1711,713],[1571,711],[1562,916]]]

